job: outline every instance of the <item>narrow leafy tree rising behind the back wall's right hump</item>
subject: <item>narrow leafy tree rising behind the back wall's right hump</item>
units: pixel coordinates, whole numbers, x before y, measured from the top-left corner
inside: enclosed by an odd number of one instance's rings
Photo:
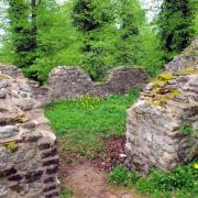
[[[118,32],[120,35],[118,40],[118,62],[123,65],[135,64],[136,52],[140,52],[138,35],[140,34],[141,22],[144,20],[143,14],[136,8],[139,3],[134,0],[121,0],[118,6]]]

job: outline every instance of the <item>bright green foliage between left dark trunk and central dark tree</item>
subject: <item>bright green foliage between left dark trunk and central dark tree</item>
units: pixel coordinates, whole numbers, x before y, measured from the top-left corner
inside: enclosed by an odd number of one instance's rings
[[[53,0],[42,1],[37,10],[37,58],[25,68],[29,78],[44,84],[48,73],[58,65],[81,65],[82,36],[76,31],[70,18],[73,3],[62,8]]]

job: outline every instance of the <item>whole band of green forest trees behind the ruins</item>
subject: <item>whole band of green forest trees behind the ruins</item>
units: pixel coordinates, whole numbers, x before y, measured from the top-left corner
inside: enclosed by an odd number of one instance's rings
[[[117,66],[151,77],[197,34],[196,0],[164,0],[148,23],[138,0],[8,0],[0,28],[0,62],[45,82],[52,68],[80,66],[95,80]]]

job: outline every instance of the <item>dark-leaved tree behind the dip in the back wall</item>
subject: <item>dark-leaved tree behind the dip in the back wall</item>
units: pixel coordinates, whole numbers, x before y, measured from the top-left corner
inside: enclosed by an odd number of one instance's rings
[[[84,34],[82,65],[94,79],[103,77],[111,59],[106,38],[114,30],[113,6],[111,0],[77,0],[73,8],[74,25]]]

